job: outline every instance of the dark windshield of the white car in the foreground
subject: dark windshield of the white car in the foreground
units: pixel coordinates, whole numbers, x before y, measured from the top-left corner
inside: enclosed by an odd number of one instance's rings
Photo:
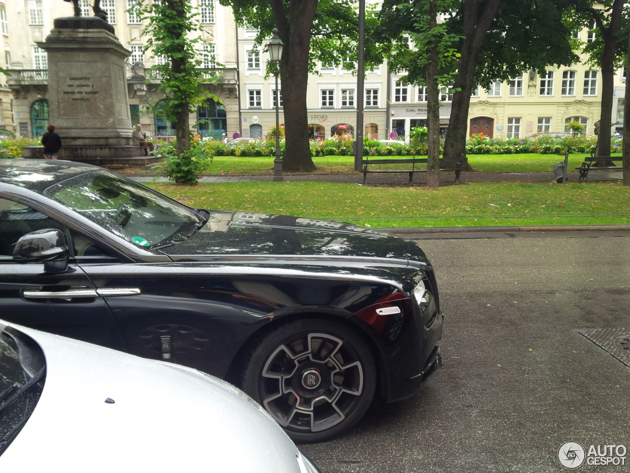
[[[31,337],[0,329],[0,455],[18,435],[42,395],[45,359]]]

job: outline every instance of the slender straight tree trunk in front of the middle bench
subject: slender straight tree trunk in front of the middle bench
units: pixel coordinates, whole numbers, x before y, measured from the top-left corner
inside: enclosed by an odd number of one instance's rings
[[[434,35],[437,26],[436,0],[429,4],[429,31]],[[429,62],[427,65],[427,187],[440,187],[440,91],[435,77],[437,76],[437,41],[435,36],[431,40]]]

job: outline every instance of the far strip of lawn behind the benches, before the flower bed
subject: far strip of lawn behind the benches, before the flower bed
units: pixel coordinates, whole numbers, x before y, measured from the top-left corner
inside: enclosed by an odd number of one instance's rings
[[[568,170],[580,166],[582,159],[588,156],[569,155]],[[389,156],[378,156],[387,158]],[[391,156],[396,158],[397,156]],[[563,161],[557,155],[468,155],[468,162],[478,172],[552,172],[553,165]],[[355,173],[354,156],[316,156],[313,162],[318,167],[316,173]],[[272,174],[273,158],[247,158],[236,156],[216,156],[210,172],[214,174]]]

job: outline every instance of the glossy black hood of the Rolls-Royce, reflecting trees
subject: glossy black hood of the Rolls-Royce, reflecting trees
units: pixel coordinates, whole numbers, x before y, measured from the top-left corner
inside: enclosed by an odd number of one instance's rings
[[[197,233],[161,251],[168,255],[407,258],[396,238],[382,231],[332,220],[222,211],[211,211]]]

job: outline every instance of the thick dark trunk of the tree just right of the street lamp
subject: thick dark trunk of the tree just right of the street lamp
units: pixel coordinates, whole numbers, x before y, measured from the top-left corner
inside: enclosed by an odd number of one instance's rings
[[[278,36],[284,42],[280,61],[282,102],[284,111],[285,148],[282,170],[312,172],[316,169],[309,146],[309,122],[306,88],[309,76],[311,28],[317,0],[291,0],[290,18],[282,0],[269,0]]]

